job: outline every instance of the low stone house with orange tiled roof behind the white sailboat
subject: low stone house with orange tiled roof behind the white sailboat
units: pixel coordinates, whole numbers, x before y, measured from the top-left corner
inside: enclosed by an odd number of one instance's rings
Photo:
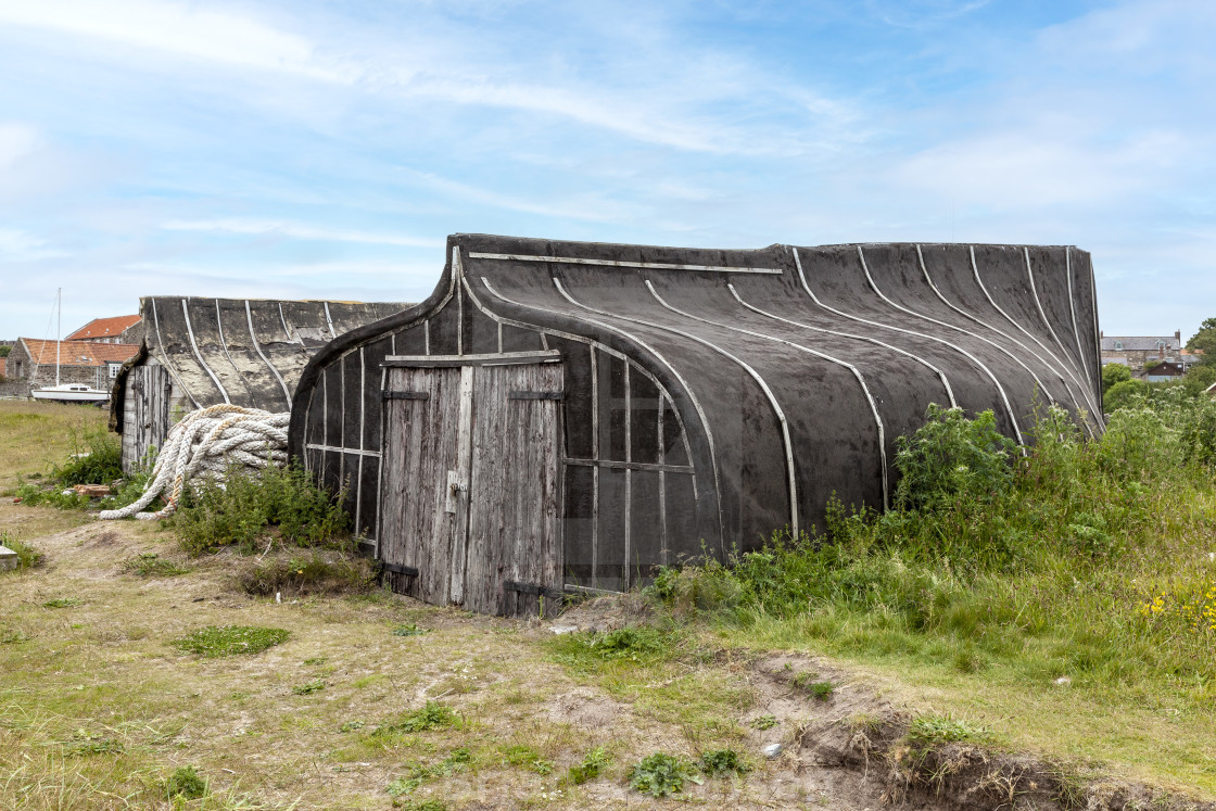
[[[26,381],[30,388],[55,385],[57,359],[60,383],[109,389],[118,370],[139,350],[139,344],[18,338],[9,353],[5,377]]]

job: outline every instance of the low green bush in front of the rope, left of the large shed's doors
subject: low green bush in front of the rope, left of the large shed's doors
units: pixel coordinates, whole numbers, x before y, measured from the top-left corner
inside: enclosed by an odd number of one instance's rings
[[[268,536],[298,546],[347,548],[344,494],[317,486],[292,464],[259,472],[230,469],[223,480],[203,479],[182,495],[171,523],[184,548],[202,554],[221,546],[252,550]]]

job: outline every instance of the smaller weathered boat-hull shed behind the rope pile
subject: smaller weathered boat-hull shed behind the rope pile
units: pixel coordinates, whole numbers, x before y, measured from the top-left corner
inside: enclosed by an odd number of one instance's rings
[[[140,299],[139,354],[119,371],[109,427],[130,471],[195,409],[282,412],[308,361],[334,337],[410,306],[156,295]]]

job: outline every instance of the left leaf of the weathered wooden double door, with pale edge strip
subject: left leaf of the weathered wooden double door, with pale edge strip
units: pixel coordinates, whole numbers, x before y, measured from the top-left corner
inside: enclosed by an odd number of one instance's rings
[[[462,599],[472,373],[390,368],[383,392],[379,557],[394,591],[438,606]]]

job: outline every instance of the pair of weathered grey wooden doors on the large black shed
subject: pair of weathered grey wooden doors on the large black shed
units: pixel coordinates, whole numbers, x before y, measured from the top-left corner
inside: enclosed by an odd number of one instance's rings
[[[556,609],[561,355],[384,365],[378,537],[393,590],[484,614]]]

